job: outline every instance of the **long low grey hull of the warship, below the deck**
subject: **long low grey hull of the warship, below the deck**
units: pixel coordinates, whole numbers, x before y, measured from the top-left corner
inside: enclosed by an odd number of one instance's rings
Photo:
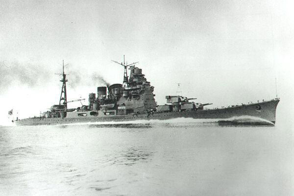
[[[70,123],[87,123],[87,122],[127,122],[136,120],[168,120],[175,118],[193,118],[193,119],[219,119],[225,123],[232,118],[241,119],[239,122],[246,124],[246,119],[256,124],[275,123],[276,107],[279,99],[252,103],[247,105],[193,110],[181,112],[163,112],[154,114],[132,114],[132,115],[114,115],[114,116],[95,116],[95,117],[76,117],[76,118],[28,118],[16,121],[16,125],[54,125]],[[236,123],[236,121],[235,121]]]

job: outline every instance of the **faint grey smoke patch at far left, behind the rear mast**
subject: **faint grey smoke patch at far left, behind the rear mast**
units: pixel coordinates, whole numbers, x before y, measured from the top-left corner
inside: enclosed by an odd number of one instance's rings
[[[0,90],[5,91],[13,84],[35,87],[47,82],[51,74],[44,66],[32,63],[0,62]]]

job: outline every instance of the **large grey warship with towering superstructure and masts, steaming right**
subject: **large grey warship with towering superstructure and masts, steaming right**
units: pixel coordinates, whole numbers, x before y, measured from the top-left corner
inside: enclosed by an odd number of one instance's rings
[[[179,95],[166,96],[166,104],[157,105],[154,87],[138,68],[136,63],[119,63],[124,68],[123,83],[97,87],[97,94],[90,93],[88,105],[69,108],[68,103],[84,99],[67,100],[67,74],[60,73],[62,79],[59,104],[52,105],[40,117],[19,119],[16,125],[54,125],[87,122],[125,122],[136,120],[168,120],[175,118],[214,119],[220,123],[232,122],[237,118],[237,123],[275,123],[275,112],[279,98],[257,101],[255,103],[231,105],[228,107],[207,109],[206,105],[212,103],[199,103]],[[129,71],[128,71],[129,70]],[[129,72],[129,74],[128,74]],[[253,121],[252,121],[253,119]],[[247,121],[249,120],[249,121]],[[236,123],[236,121],[234,121]]]

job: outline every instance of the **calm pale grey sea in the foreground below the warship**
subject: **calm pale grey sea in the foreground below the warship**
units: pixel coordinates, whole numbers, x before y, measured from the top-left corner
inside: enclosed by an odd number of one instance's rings
[[[290,126],[0,127],[0,196],[292,196]]]

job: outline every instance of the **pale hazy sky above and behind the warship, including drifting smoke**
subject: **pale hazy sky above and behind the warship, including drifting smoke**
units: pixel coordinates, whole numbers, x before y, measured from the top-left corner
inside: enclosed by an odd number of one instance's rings
[[[0,0],[0,124],[11,108],[24,118],[58,103],[54,73],[63,59],[68,99],[87,99],[101,85],[93,73],[122,83],[123,68],[111,60],[123,54],[140,62],[158,104],[176,83],[212,107],[275,98],[276,77],[277,112],[285,116],[293,108],[293,7],[291,0]]]

